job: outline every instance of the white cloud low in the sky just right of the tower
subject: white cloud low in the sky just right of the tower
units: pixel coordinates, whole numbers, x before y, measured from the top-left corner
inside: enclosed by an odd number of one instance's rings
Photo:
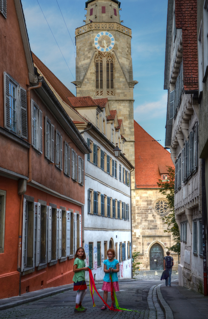
[[[167,93],[161,96],[161,99],[154,102],[146,102],[134,107],[134,117],[140,121],[147,119],[162,118],[166,116],[167,111]]]

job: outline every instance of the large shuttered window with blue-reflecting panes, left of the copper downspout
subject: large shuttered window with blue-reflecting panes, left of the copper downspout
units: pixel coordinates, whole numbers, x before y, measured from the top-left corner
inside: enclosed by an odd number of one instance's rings
[[[27,139],[26,90],[4,72],[4,127]]]

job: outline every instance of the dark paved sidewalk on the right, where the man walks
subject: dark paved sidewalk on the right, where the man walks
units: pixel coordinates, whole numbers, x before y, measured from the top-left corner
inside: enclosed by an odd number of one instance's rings
[[[208,296],[178,286],[178,280],[171,281],[171,287],[165,284],[160,286],[161,303],[172,310],[166,315],[166,319],[208,319]],[[165,300],[165,304],[164,301]],[[169,306],[169,307],[167,307]]]

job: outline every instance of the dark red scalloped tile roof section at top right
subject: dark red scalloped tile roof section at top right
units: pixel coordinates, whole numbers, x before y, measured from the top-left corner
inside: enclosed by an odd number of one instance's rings
[[[175,15],[182,29],[184,89],[198,90],[197,0],[175,0]]]

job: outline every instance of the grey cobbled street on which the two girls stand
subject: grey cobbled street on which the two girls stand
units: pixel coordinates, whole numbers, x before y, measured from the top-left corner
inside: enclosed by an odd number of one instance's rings
[[[176,278],[175,278],[176,277]],[[172,278],[177,279],[177,276]],[[117,293],[119,306],[135,311],[112,312],[108,309],[101,311],[102,300],[94,293],[96,307],[92,307],[92,299],[88,287],[87,294],[82,302],[87,308],[85,313],[74,313],[76,292],[70,290],[58,293],[54,296],[23,304],[14,308],[1,310],[1,319],[61,319],[79,316],[80,318],[118,318],[118,319],[164,319],[164,314],[159,306],[156,297],[156,286],[161,284],[160,276],[142,276],[138,280],[120,281]],[[102,284],[96,285],[98,292],[101,291]],[[110,293],[108,296],[110,303]]]

